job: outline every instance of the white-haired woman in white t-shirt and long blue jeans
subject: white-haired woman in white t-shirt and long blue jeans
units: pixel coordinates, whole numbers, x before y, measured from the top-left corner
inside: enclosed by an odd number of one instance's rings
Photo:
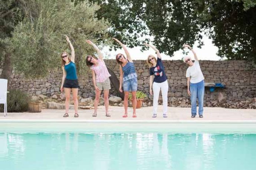
[[[198,99],[198,115],[199,118],[203,118],[203,106],[204,106],[204,76],[201,71],[196,52],[189,46],[188,47],[194,54],[195,61],[192,62],[190,57],[184,57],[183,61],[189,65],[186,71],[188,95],[190,95],[191,101],[191,118],[196,117],[196,101]]]

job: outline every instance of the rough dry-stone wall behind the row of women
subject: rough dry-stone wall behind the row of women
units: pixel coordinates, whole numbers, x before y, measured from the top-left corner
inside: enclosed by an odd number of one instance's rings
[[[119,66],[116,65],[115,60],[106,60],[105,62],[119,78]],[[149,94],[148,65],[144,60],[135,60],[134,63],[138,74],[138,90]],[[173,103],[179,99],[180,101],[175,106],[187,106],[189,103],[185,77],[187,65],[182,61],[163,61],[163,63],[169,83],[169,105],[173,106]],[[218,106],[214,105],[213,101],[217,101],[219,92],[227,99],[227,103],[246,101],[256,97],[256,69],[252,68],[246,61],[200,61],[200,65],[205,82],[220,82],[226,85],[226,88],[216,88],[214,92],[210,92],[206,88],[204,96],[206,106]],[[9,80],[9,88],[22,89],[31,95],[43,94],[50,97],[60,93],[61,79],[61,71],[49,73],[45,79],[36,80],[23,79],[21,76],[13,74]],[[81,86],[79,89],[80,96],[83,98],[94,97],[90,72],[88,75],[80,77],[79,85]],[[110,94],[116,95],[115,90],[111,89]],[[151,99],[152,96],[149,98]]]

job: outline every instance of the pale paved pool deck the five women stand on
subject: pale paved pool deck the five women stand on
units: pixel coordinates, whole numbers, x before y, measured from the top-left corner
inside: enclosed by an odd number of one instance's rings
[[[198,108],[197,108],[198,109]],[[69,117],[63,118],[65,110],[43,109],[40,113],[0,113],[0,122],[85,122],[85,123],[256,123],[255,109],[204,108],[204,118],[191,118],[191,108],[168,107],[168,118],[163,118],[162,106],[158,107],[157,118],[152,118],[152,107],[137,109],[137,118],[132,118],[132,108],[128,108],[128,117],[122,118],[124,107],[109,106],[111,117],[105,116],[105,107],[99,106],[97,117],[92,117],[93,109],[78,110],[79,118],[74,118],[74,110]]]

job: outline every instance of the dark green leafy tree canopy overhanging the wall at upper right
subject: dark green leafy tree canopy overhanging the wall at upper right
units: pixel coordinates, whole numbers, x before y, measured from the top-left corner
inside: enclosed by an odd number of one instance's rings
[[[73,0],[75,4],[83,0]],[[256,63],[255,0],[90,0],[107,18],[109,33],[129,47],[142,45],[148,35],[168,55],[184,43],[199,41],[206,33],[219,48],[218,55]]]

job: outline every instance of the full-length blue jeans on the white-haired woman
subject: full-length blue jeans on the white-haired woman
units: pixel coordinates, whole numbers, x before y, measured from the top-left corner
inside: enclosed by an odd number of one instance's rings
[[[198,99],[198,114],[203,115],[204,106],[204,81],[190,83],[191,114],[196,115],[196,99]]]

